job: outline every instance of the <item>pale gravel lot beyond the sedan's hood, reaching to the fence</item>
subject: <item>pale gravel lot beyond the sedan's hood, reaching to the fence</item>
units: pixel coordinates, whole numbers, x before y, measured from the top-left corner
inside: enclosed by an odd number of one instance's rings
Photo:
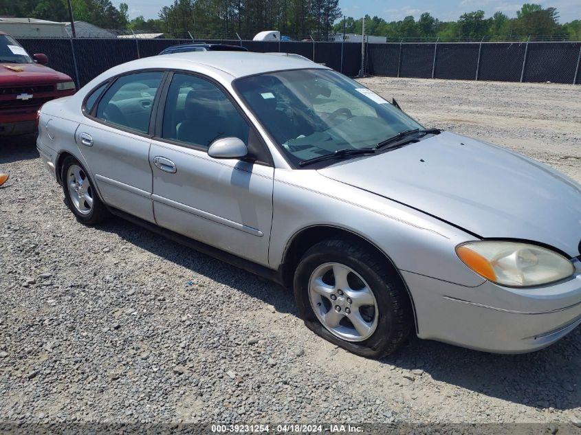
[[[425,126],[503,145],[581,182],[581,86],[370,77]]]

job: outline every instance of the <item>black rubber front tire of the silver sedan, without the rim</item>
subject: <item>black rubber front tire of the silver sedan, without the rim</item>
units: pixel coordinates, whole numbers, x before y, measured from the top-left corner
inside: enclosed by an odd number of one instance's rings
[[[379,313],[373,335],[364,341],[341,339],[318,320],[309,300],[309,280],[325,263],[350,267],[371,287]],[[311,331],[362,357],[380,358],[393,353],[413,330],[413,310],[402,278],[384,256],[360,241],[332,238],[311,247],[294,274],[294,295],[300,315]]]

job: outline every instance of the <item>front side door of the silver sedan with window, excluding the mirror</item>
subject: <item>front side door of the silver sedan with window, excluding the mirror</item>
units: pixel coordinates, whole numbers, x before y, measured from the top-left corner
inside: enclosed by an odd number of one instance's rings
[[[167,83],[149,152],[157,224],[267,265],[274,182],[270,154],[214,82],[175,73]],[[239,137],[250,157],[208,156],[210,144],[221,137]]]

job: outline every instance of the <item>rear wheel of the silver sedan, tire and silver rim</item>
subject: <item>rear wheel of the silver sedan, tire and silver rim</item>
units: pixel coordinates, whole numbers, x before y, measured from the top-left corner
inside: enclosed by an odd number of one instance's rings
[[[111,216],[94,188],[94,183],[83,165],[74,157],[66,157],[61,168],[65,203],[77,221],[97,225]]]

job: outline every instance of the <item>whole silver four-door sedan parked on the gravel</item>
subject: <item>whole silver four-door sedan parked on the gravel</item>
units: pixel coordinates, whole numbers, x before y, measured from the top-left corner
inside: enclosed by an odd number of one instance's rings
[[[276,280],[358,355],[413,333],[529,352],[581,322],[578,183],[304,58],[135,60],[39,117],[78,221],[123,216]]]

